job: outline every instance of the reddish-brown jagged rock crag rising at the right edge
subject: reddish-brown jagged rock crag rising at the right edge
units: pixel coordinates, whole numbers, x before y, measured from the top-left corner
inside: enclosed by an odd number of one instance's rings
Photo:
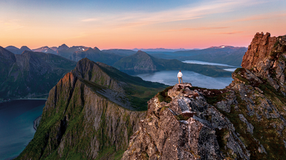
[[[256,33],[243,56],[241,66],[246,70],[241,70],[239,74],[244,75],[251,83],[254,83],[254,76],[266,80],[276,91],[285,95],[285,62],[286,36],[271,37],[269,33]],[[237,77],[236,73],[233,78]]]

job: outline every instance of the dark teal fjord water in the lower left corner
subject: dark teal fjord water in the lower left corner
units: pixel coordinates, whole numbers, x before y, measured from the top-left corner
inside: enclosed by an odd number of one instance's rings
[[[34,137],[34,120],[46,100],[12,100],[0,103],[0,160],[17,157]]]

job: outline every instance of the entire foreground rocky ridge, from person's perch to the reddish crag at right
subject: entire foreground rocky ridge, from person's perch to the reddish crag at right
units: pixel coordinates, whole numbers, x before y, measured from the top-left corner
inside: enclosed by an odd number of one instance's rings
[[[156,95],[122,159],[285,159],[285,38],[256,34],[226,89]]]

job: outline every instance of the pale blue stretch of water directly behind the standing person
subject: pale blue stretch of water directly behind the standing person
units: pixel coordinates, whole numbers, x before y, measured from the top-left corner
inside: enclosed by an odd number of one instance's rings
[[[190,82],[193,86],[207,89],[224,89],[233,80],[232,78],[213,78],[204,76],[200,73],[195,73],[194,71],[182,71],[182,73],[183,82]],[[154,73],[137,74],[136,76],[139,76],[143,80],[161,82],[173,86],[178,83],[177,74],[178,71],[156,71]]]

